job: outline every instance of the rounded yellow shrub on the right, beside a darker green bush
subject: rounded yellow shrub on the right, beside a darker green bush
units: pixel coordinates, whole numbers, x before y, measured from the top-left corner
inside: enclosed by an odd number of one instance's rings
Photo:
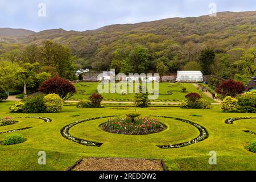
[[[228,96],[221,102],[220,108],[226,113],[236,112],[238,111],[238,100]]]

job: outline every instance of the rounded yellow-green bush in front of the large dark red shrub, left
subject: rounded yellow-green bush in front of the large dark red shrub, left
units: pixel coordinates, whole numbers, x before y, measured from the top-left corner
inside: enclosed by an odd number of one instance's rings
[[[47,113],[58,113],[63,107],[62,99],[55,93],[44,96],[44,102]]]

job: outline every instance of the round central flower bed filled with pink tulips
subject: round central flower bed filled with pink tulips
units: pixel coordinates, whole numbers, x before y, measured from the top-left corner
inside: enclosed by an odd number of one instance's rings
[[[123,135],[147,135],[159,133],[166,130],[166,125],[151,117],[133,119],[130,117],[110,118],[108,122],[102,124],[101,129],[109,133]]]

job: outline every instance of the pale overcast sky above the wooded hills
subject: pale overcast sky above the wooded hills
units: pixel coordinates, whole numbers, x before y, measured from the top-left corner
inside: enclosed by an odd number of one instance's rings
[[[46,5],[46,16],[39,3]],[[256,0],[0,0],[0,27],[85,31],[117,23],[207,15],[210,3],[216,4],[218,12],[256,10]]]

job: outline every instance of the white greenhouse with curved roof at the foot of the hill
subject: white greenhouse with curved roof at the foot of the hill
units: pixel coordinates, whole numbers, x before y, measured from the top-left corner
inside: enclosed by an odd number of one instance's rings
[[[201,71],[178,71],[176,81],[203,82],[203,73]]]

